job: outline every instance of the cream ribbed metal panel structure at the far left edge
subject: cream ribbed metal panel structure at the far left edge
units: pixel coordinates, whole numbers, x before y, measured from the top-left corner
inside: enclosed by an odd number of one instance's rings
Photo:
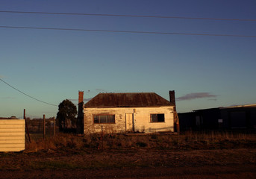
[[[0,120],[0,151],[25,150],[25,120]]]

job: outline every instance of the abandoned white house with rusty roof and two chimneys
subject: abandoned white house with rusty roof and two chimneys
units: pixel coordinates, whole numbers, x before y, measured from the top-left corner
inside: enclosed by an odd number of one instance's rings
[[[79,92],[80,108],[83,94]],[[173,132],[176,114],[174,91],[169,91],[169,98],[167,101],[154,92],[99,93],[83,105],[84,118],[78,114],[78,122],[84,121],[84,134],[102,130],[104,133]],[[78,111],[81,112],[79,107]]]

